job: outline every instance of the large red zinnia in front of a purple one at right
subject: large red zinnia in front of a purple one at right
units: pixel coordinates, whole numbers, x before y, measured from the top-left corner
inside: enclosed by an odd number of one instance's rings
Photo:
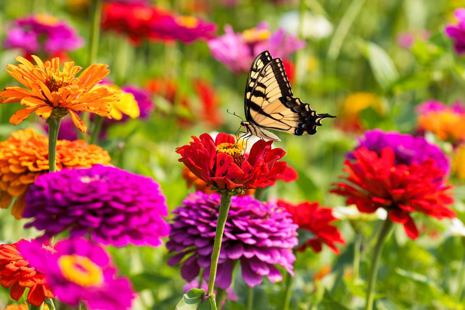
[[[455,218],[457,214],[448,204],[454,203],[444,180],[445,171],[434,159],[422,164],[395,164],[395,153],[385,147],[380,155],[360,147],[353,152],[355,162],[345,160],[347,183],[339,183],[333,193],[347,197],[347,204],[355,204],[359,211],[372,213],[385,208],[393,222],[404,224],[408,237],[416,239],[418,230],[410,215],[413,211],[434,218]]]

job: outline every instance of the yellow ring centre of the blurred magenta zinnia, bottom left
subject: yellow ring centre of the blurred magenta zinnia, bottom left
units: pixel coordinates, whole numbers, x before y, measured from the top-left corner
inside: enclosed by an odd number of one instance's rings
[[[102,269],[87,257],[62,255],[58,259],[58,266],[67,280],[80,286],[99,286],[103,283]]]

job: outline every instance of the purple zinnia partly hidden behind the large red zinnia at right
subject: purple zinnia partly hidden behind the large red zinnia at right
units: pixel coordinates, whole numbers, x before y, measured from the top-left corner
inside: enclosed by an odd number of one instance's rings
[[[368,130],[365,135],[360,137],[359,145],[365,146],[370,151],[375,151],[381,155],[381,150],[390,147],[396,156],[396,165],[423,164],[427,159],[432,158],[438,167],[449,173],[450,162],[441,149],[434,144],[429,143],[423,137],[413,137],[409,134],[399,132],[384,132],[380,129]],[[354,159],[353,153],[347,154],[347,158]]]

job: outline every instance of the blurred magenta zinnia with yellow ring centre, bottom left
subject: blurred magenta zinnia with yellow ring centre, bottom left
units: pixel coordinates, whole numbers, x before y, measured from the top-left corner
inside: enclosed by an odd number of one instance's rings
[[[57,242],[45,251],[38,242],[20,243],[21,253],[46,274],[57,299],[70,305],[84,303],[90,310],[126,310],[134,298],[132,285],[117,277],[109,255],[99,245],[81,238]]]

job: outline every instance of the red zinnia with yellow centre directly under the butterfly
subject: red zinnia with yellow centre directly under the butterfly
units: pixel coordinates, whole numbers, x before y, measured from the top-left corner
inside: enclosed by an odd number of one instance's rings
[[[272,141],[257,141],[246,157],[245,148],[226,133],[219,133],[215,140],[208,133],[192,138],[189,145],[176,149],[179,161],[220,193],[264,188],[287,169],[287,163],[279,161],[286,152],[272,149]]]

